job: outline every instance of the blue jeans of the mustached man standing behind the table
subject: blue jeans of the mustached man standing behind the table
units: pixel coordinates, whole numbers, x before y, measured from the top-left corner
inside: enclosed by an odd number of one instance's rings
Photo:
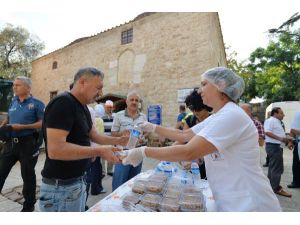
[[[142,163],[143,162],[141,162],[137,167],[133,167],[131,165],[124,166],[122,164],[115,164],[115,171],[112,181],[112,190],[116,190],[126,181],[138,175],[142,170]]]

